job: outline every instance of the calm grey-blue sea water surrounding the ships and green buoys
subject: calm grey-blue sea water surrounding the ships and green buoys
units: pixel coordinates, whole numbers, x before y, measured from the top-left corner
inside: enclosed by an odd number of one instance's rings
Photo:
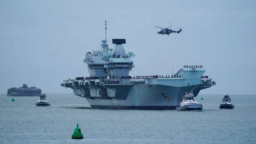
[[[0,143],[256,143],[256,95],[230,95],[235,109],[219,109],[223,95],[199,95],[202,112],[92,109],[73,94],[0,94]],[[200,100],[203,97],[204,100]],[[84,139],[73,140],[76,123]]]

